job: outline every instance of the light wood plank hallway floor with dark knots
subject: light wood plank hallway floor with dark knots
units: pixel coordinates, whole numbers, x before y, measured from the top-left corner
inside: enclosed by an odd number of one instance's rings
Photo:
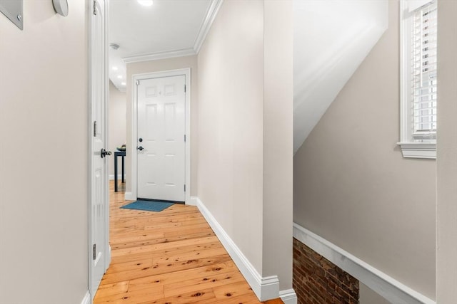
[[[111,181],[111,265],[94,304],[261,303],[199,209],[119,209],[128,203]]]

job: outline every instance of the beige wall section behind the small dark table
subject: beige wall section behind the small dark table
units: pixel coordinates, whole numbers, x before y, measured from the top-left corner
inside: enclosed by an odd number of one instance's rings
[[[113,155],[109,157],[109,175],[114,176],[114,152],[116,147],[126,143],[126,108],[127,94],[119,91],[111,81],[109,82],[109,137],[108,147]],[[118,175],[121,174],[121,159],[118,158]]]

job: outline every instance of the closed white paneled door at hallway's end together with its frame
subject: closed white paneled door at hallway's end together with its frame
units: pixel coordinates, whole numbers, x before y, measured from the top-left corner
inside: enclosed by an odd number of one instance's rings
[[[129,147],[131,155],[131,193],[126,193],[126,199],[136,200],[139,197],[144,199],[160,199],[168,201],[184,201],[189,204],[191,201],[191,70],[184,68],[179,70],[167,70],[154,73],[134,75],[132,88],[133,100],[131,110],[131,139],[136,145]],[[166,81],[161,81],[166,80]],[[184,88],[181,87],[184,84]],[[161,89],[159,89],[159,87]],[[139,90],[142,90],[139,94]],[[174,97],[179,95],[184,97],[183,104],[175,103]],[[154,95],[165,96],[159,98],[164,117],[164,108],[169,108],[169,120],[161,121],[161,127],[166,127],[167,123],[173,122],[175,118],[179,120],[177,124],[181,127],[168,127],[168,130],[161,132],[161,141],[164,149],[160,153],[145,153],[145,150],[153,151],[157,142],[149,138],[149,143],[142,129],[146,112],[149,115],[158,113],[158,105],[149,103],[149,110],[146,111],[146,104],[141,101],[145,96],[154,99]],[[168,99],[171,98],[171,99]],[[140,103],[139,103],[140,100]],[[145,112],[146,111],[146,112]],[[184,121],[181,121],[184,120]],[[156,122],[154,122],[155,124]],[[146,126],[147,128],[147,126]],[[154,125],[149,125],[153,130]],[[166,135],[164,135],[167,133]],[[141,137],[140,137],[141,136]],[[152,135],[151,135],[152,136]],[[165,137],[164,137],[165,136]],[[154,136],[153,136],[154,137]],[[152,146],[151,146],[152,145]],[[157,151],[157,150],[154,150]],[[182,154],[184,155],[178,155]],[[154,155],[155,154],[155,155]],[[155,159],[154,159],[155,157]],[[178,158],[182,157],[182,158]],[[148,159],[149,158],[149,159]],[[153,167],[141,167],[145,164]],[[155,164],[155,167],[154,167]],[[151,172],[151,170],[158,172]],[[176,170],[171,173],[169,170]],[[184,170],[184,172],[183,172]],[[161,178],[161,189],[159,185],[154,185],[154,178]],[[140,184],[141,183],[141,184]],[[156,183],[158,184],[158,183]],[[146,196],[146,197],[144,197]]]

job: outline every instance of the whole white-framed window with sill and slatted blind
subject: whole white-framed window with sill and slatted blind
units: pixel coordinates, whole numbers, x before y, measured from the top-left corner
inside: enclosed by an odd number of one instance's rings
[[[436,0],[401,1],[403,157],[436,158]]]

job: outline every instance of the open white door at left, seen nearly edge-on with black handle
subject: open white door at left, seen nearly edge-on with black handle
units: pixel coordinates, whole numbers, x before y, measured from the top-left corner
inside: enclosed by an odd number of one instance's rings
[[[96,294],[109,265],[109,197],[106,172],[106,3],[94,2],[91,14],[91,208],[89,291]],[[96,10],[96,12],[95,12]]]

